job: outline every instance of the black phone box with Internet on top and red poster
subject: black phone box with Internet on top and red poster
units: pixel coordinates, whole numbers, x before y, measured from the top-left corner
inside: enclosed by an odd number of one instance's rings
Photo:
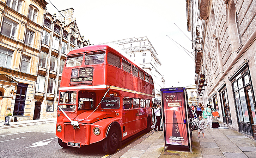
[[[192,152],[189,128],[188,97],[185,87],[161,89],[164,125],[164,149],[166,146],[188,148]]]

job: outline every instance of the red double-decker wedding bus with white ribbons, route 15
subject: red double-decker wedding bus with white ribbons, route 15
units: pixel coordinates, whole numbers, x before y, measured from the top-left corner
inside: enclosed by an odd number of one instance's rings
[[[107,45],[69,52],[59,90],[56,136],[63,148],[102,141],[112,154],[122,140],[151,129],[152,77]]]

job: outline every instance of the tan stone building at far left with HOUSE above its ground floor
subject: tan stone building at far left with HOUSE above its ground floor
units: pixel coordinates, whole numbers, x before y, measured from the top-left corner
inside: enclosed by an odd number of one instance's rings
[[[45,0],[0,1],[0,121],[33,117]]]

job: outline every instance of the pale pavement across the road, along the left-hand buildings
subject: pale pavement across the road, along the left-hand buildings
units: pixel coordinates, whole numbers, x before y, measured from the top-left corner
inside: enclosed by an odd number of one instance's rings
[[[30,125],[38,125],[38,124],[45,124],[45,123],[56,123],[57,118],[48,118],[48,119],[38,119],[38,120],[26,120],[26,121],[17,121],[17,122],[10,122],[9,125],[5,125],[4,121],[0,123],[0,130],[1,129],[8,129],[13,127],[22,127],[22,126],[30,126]]]

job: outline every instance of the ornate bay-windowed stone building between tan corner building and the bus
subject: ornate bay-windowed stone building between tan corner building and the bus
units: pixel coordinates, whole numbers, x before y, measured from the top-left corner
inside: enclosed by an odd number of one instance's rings
[[[60,11],[58,17],[48,12],[44,14],[33,119],[57,116],[59,86],[67,53],[90,45],[80,34],[73,13],[74,9],[69,8]]]

